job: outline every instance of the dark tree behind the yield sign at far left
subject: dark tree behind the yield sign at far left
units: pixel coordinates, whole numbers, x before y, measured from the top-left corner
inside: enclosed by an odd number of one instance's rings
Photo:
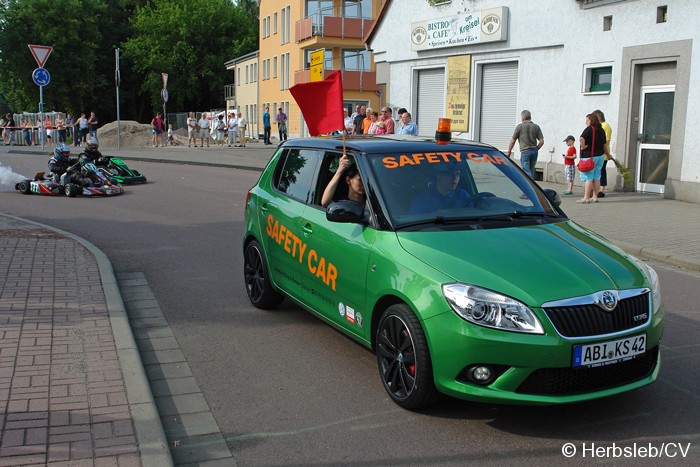
[[[97,0],[9,0],[0,21],[0,96],[14,111],[38,111],[39,88],[32,81],[37,64],[28,44],[53,47],[45,68],[45,110],[76,113],[95,108],[105,77],[96,73],[102,34]],[[79,12],[80,14],[66,14]]]

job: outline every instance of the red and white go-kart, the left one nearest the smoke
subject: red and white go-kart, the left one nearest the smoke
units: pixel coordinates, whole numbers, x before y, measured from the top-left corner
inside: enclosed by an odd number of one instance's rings
[[[84,186],[71,180],[71,173],[79,171]],[[57,182],[51,175],[37,172],[33,180],[23,180],[15,185],[15,189],[24,195],[36,193],[39,195],[66,195],[70,198],[83,196],[113,196],[124,192],[124,188],[112,183],[92,162],[78,163],[61,175]]]

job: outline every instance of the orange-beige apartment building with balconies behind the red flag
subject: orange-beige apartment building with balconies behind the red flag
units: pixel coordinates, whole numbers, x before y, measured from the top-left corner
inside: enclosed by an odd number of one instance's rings
[[[273,138],[277,136],[275,115],[279,108],[288,116],[290,138],[308,134],[289,88],[310,81],[310,54],[319,49],[324,50],[324,76],[342,70],[344,101],[350,112],[356,104],[373,108],[382,105],[382,87],[377,85],[374,60],[363,43],[382,3],[383,0],[260,0],[254,114],[260,133],[263,109],[269,106]],[[240,83],[245,79],[244,71],[238,76],[243,62],[233,66],[236,83]],[[235,89],[234,101],[242,103],[239,87],[236,85]]]

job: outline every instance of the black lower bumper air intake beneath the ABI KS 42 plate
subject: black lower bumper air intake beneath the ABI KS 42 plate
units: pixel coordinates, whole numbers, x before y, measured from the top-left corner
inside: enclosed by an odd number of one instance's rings
[[[601,391],[648,377],[656,368],[659,347],[626,362],[593,368],[543,368],[533,371],[517,393],[563,396]]]

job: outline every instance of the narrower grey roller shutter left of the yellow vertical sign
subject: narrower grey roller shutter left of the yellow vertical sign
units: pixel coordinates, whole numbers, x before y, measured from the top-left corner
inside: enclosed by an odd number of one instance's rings
[[[420,136],[434,137],[438,118],[445,116],[445,69],[418,72],[418,108],[413,120]]]

